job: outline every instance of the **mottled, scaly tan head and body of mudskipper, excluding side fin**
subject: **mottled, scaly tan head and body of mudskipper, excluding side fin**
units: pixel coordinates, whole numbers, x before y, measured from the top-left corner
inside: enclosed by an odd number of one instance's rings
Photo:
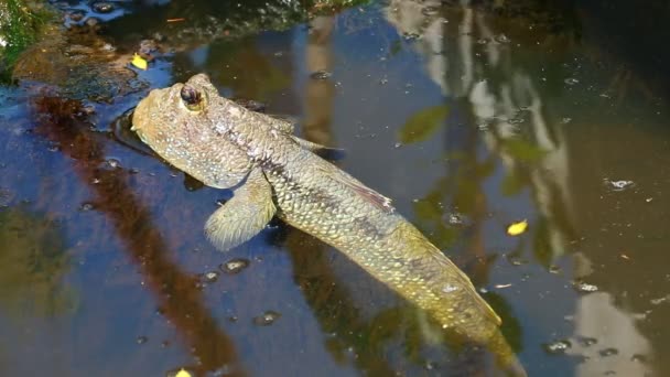
[[[219,97],[206,76],[194,76],[187,85],[207,94],[203,110],[195,115],[183,111],[177,98],[181,84],[152,91],[133,118],[133,128],[144,142],[177,168],[217,187],[237,184],[239,172],[261,169],[272,187],[277,214],[284,222],[344,252],[432,314],[443,328],[489,345],[505,365],[515,363],[498,328],[500,319],[469,279],[398,214],[390,201],[303,148],[287,132],[290,127]],[[228,159],[219,163],[221,153]],[[220,176],[227,177],[226,184]]]

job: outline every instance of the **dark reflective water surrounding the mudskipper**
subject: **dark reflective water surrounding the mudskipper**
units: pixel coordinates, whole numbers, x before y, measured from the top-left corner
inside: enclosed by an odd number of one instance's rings
[[[0,375],[497,374],[279,222],[215,251],[202,227],[231,194],[127,130],[149,88],[198,72],[345,149],[485,292],[529,375],[670,374],[668,60],[613,32],[625,11],[391,1],[240,31],[207,17],[259,15],[184,3],[100,21],[120,53],[166,40],[133,90],[0,88]]]

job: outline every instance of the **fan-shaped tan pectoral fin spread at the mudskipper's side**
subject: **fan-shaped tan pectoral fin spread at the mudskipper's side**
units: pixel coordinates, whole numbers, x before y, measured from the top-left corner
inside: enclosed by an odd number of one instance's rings
[[[256,236],[275,212],[270,183],[256,168],[233,198],[209,216],[205,235],[219,251],[226,251]]]

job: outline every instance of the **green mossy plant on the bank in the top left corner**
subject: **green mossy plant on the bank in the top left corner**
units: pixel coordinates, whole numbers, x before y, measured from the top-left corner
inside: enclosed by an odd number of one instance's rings
[[[0,0],[0,82],[11,76],[11,67],[25,47],[35,42],[48,18],[40,4]]]

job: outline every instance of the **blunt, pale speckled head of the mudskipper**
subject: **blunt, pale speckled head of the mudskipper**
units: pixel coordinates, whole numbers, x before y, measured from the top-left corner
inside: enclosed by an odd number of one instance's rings
[[[132,127],[140,140],[164,160],[206,185],[231,187],[251,168],[249,158],[226,139],[225,109],[204,74],[163,89],[153,89],[134,109]]]

